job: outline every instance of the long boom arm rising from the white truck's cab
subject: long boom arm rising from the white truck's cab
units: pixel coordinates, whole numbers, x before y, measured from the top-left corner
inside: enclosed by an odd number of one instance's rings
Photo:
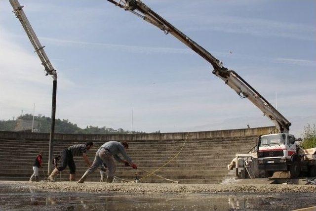
[[[248,98],[257,106],[263,114],[268,117],[280,132],[288,133],[291,123],[286,120],[263,96],[261,96],[251,85],[244,81],[235,71],[228,70],[223,63],[210,54],[203,47],[191,40],[168,21],[159,16],[150,7],[140,0],[108,0],[116,6],[123,8],[141,17],[143,20],[155,25],[165,34],[171,34],[179,41],[194,50],[198,55],[208,61],[214,68],[213,74],[222,79],[225,84],[234,89],[242,98]],[[138,12],[136,12],[138,11]]]

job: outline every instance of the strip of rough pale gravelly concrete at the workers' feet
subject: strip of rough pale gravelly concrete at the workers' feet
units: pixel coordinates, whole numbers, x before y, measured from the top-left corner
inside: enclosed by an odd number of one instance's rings
[[[222,185],[222,184],[174,184],[174,183],[101,183],[86,182],[21,182],[0,181],[0,184],[19,184],[41,190],[71,192],[118,193],[316,193],[316,185]]]

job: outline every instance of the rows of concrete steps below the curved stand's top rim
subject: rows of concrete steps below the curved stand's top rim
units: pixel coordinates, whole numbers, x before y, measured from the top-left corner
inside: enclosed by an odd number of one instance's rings
[[[78,135],[74,135],[77,137]],[[80,135],[79,135],[80,136]],[[72,137],[72,135],[67,135]],[[110,137],[110,136],[109,136]],[[111,136],[112,137],[112,136]],[[109,140],[109,139],[108,139]],[[248,152],[256,143],[257,135],[228,136],[203,139],[188,138],[182,152],[169,164],[155,172],[168,179],[179,180],[180,183],[209,183],[219,184],[229,172],[227,164],[235,157],[236,153]],[[85,143],[86,141],[56,140],[54,152],[59,155],[68,146]],[[94,147],[87,153],[92,161],[97,149],[104,141],[93,141]],[[127,154],[139,168],[147,171],[158,169],[173,158],[184,144],[184,139],[179,140],[132,140],[128,141]],[[0,180],[29,180],[33,173],[32,165],[36,155],[43,151],[44,172],[47,172],[48,140],[36,139],[3,139],[0,137]],[[76,163],[77,179],[87,169],[82,158],[74,158]],[[117,163],[116,175],[123,179],[134,180],[135,170],[126,168]],[[141,178],[147,173],[137,170]],[[40,170],[40,178],[43,178]],[[57,180],[59,175],[57,175]],[[61,173],[61,180],[69,179],[69,169]],[[99,181],[100,173],[97,169],[88,177],[87,181]],[[141,182],[167,182],[157,176],[149,176]]]

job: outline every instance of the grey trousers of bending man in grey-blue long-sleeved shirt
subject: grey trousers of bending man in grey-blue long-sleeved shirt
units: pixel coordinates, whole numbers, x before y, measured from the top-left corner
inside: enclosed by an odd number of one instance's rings
[[[105,165],[108,168],[108,177],[114,178],[114,174],[117,167],[111,153],[104,148],[98,149],[98,151],[95,153],[95,158],[92,163],[92,166],[89,169],[87,169],[86,172],[89,174],[94,172],[97,168],[99,168],[102,165],[102,163],[105,163]]]

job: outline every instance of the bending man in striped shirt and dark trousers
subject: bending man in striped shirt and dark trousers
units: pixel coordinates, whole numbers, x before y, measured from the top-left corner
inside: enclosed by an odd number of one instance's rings
[[[91,163],[89,161],[89,158],[87,157],[87,151],[90,150],[90,148],[93,146],[93,142],[89,141],[85,144],[75,144],[73,146],[68,147],[67,149],[64,149],[62,152],[62,161],[61,166],[56,167],[53,172],[48,176],[48,179],[52,182],[55,182],[55,176],[59,173],[59,171],[62,171],[66,169],[66,167],[69,167],[69,180],[75,181],[76,179],[76,165],[74,162],[74,157],[81,157],[83,158],[84,162],[87,164],[88,167],[91,166]]]

